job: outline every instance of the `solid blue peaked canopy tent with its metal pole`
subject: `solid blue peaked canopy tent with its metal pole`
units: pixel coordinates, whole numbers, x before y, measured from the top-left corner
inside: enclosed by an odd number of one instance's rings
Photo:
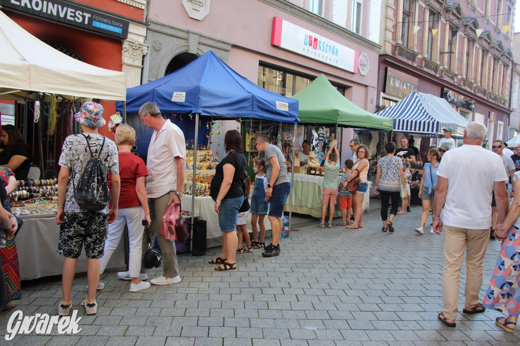
[[[138,113],[141,105],[149,101],[157,103],[163,113],[193,115],[196,124],[194,148],[198,145],[197,124],[201,115],[217,119],[257,118],[293,123],[293,138],[296,138],[296,124],[300,122],[298,100],[275,94],[254,84],[233,71],[211,50],[167,76],[127,89],[126,103],[117,102],[116,109],[123,112],[126,121],[126,112]],[[150,137],[151,132],[148,139]],[[193,154],[194,177],[197,150]],[[192,191],[195,190],[193,179]],[[193,196],[191,210],[194,210],[194,203]]]

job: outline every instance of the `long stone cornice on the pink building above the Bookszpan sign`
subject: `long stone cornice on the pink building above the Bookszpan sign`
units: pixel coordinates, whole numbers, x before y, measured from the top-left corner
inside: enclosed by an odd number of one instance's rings
[[[300,18],[310,24],[317,25],[320,28],[323,28],[323,29],[325,29],[335,35],[341,36],[345,39],[348,39],[348,41],[357,43],[358,45],[361,45],[374,52],[379,53],[380,49],[382,48],[382,46],[380,46],[379,44],[377,44],[375,42],[370,41],[368,38],[355,34],[352,31],[347,30],[340,25],[334,24],[333,22],[331,22],[323,17],[315,15],[313,12],[310,12],[300,6],[290,3],[289,1],[286,1],[286,0],[258,0],[258,1],[263,2],[272,7],[276,7],[277,9],[284,11],[297,18]]]

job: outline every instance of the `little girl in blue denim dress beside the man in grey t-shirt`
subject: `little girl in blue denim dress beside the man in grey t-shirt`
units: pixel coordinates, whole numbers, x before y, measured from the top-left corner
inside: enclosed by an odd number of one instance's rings
[[[265,190],[267,189],[267,176],[265,174],[265,160],[263,158],[255,159],[253,163],[253,171],[255,176],[255,187],[251,197],[251,229],[253,230],[253,242],[251,245],[255,249],[265,247],[265,225],[264,218],[269,210],[269,203],[265,201]],[[258,242],[258,228],[256,222],[260,226],[260,241]]]

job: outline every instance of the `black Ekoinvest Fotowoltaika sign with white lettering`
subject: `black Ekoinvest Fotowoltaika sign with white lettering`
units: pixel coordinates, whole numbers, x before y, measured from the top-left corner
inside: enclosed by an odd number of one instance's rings
[[[110,36],[128,37],[128,21],[61,0],[0,0],[0,5]]]

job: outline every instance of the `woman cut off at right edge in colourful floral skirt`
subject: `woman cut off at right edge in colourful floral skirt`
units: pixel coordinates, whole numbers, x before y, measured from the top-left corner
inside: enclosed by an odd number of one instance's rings
[[[520,177],[520,171],[516,172]],[[515,179],[515,188],[520,189],[520,179]],[[518,190],[520,191],[520,190]],[[502,241],[500,254],[483,305],[500,311],[507,317],[497,317],[497,325],[514,332],[520,314],[520,196],[513,203],[502,227],[495,231],[495,238]]]

